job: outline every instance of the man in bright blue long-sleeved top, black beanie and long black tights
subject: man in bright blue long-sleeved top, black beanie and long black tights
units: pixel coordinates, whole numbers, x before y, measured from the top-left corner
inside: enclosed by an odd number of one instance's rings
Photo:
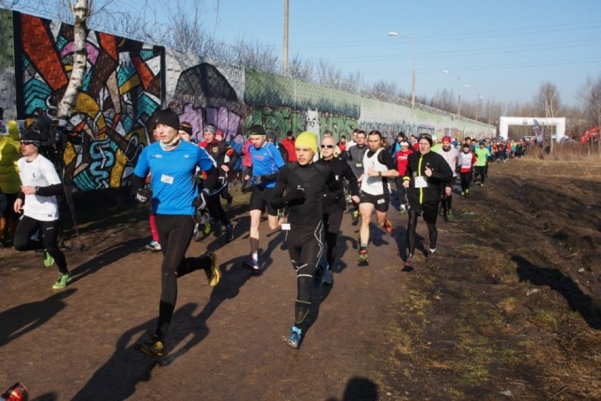
[[[157,114],[156,122],[160,140],[142,150],[132,181],[138,202],[152,200],[163,252],[162,291],[157,328],[148,340],[138,343],[135,348],[145,354],[162,357],[176,305],[178,277],[203,269],[209,284],[215,286],[221,273],[214,253],[200,258],[185,258],[192,239],[196,209],[204,207],[217,181],[216,164],[204,149],[181,140],[176,112],[162,110]],[[195,185],[196,167],[207,174],[200,195]],[[144,178],[151,170],[152,194],[144,188]]]

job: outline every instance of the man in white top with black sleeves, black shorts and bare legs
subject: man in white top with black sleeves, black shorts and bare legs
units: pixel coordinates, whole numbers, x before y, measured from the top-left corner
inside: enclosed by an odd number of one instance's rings
[[[390,203],[390,186],[388,181],[391,177],[399,176],[392,155],[382,148],[382,134],[380,131],[371,131],[368,135],[368,142],[370,149],[363,155],[363,168],[365,170],[359,180],[361,181],[359,263],[368,263],[369,261],[370,220],[374,209],[376,211],[377,224],[383,227],[386,232],[392,232],[392,225],[387,217]]]

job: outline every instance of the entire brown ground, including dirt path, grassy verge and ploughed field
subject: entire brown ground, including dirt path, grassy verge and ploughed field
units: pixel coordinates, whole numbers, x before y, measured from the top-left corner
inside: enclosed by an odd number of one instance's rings
[[[360,267],[346,215],[334,285],[314,290],[298,350],[283,341],[296,297],[283,235],[263,222],[265,270],[243,270],[240,194],[236,240],[190,245],[188,256],[216,251],[224,275],[214,288],[202,272],[178,281],[162,359],[133,349],[160,291],[146,209],[92,218],[75,205],[85,248],[67,241],[66,289],[51,289],[41,253],[0,249],[0,386],[25,383],[30,400],[599,400],[601,164],[580,165],[493,164],[484,187],[454,196],[431,263],[420,221],[411,272],[406,216],[390,211],[392,234],[372,227]]]

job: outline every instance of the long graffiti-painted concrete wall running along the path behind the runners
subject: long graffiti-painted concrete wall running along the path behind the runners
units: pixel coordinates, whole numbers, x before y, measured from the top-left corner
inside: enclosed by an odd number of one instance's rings
[[[0,107],[5,118],[53,116],[73,68],[73,27],[0,10]],[[150,143],[159,109],[171,107],[202,140],[206,124],[217,126],[240,150],[253,124],[283,138],[313,131],[347,137],[355,128],[394,138],[494,135],[494,127],[454,119],[435,109],[411,109],[367,99],[315,83],[222,64],[198,55],[88,32],[83,88],[59,149],[73,191],[130,184],[135,162]],[[15,56],[18,55],[18,56]]]

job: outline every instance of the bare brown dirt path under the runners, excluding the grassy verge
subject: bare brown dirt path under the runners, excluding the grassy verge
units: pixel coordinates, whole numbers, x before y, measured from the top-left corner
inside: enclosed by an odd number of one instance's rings
[[[248,217],[236,220],[231,244],[212,236],[191,244],[188,256],[215,249],[224,275],[214,289],[202,272],[178,282],[169,354],[159,363],[133,350],[153,327],[160,288],[162,256],[142,250],[146,222],[85,235],[86,250],[68,252],[74,278],[62,292],[50,289],[55,271],[40,254],[1,250],[0,383],[21,381],[43,400],[371,399],[388,306],[404,291],[394,237],[372,229],[377,246],[359,268],[357,227],[345,216],[346,252],[334,285],[315,291],[314,323],[296,351],[283,341],[296,297],[283,235],[262,237],[267,268],[253,276],[240,268]]]

